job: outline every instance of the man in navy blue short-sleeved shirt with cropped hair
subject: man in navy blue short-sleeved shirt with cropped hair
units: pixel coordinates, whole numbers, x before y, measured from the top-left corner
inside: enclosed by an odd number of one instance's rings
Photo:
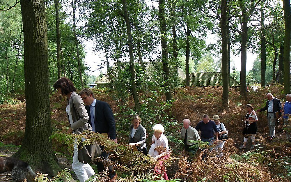
[[[196,128],[197,131],[201,130],[201,140],[203,142],[209,142],[209,145],[213,144],[215,131],[215,138],[218,139],[218,130],[214,121],[209,120],[209,116],[207,114],[203,115],[203,120],[199,121]]]

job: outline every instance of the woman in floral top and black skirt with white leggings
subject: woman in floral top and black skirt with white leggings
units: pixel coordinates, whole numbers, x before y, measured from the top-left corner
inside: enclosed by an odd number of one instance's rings
[[[255,136],[257,134],[258,128],[257,128],[257,121],[258,117],[257,114],[254,111],[254,108],[251,104],[246,105],[246,110],[248,113],[246,114],[246,120],[244,124],[244,131],[242,134],[244,134],[244,144],[239,147],[240,149],[246,148],[246,142],[248,141],[248,137],[251,136],[251,140],[253,142],[253,145],[250,147],[250,149],[255,148]]]

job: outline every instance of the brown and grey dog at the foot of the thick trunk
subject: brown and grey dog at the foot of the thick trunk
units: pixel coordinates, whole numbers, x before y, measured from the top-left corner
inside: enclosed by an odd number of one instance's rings
[[[32,171],[27,162],[13,157],[0,156],[0,173],[11,171],[11,178],[16,182],[32,182],[36,174]]]

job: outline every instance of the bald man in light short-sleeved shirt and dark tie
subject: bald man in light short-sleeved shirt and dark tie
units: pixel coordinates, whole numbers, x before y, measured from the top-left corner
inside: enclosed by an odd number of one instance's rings
[[[190,120],[183,120],[183,128],[181,129],[181,138],[184,140],[185,151],[195,154],[198,150],[197,144],[189,143],[189,140],[201,140],[197,130],[190,126]],[[196,145],[194,149],[189,149],[191,146]]]

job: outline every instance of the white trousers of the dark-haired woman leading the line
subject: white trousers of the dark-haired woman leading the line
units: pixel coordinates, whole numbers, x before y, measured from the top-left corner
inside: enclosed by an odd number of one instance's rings
[[[78,144],[74,144],[74,156],[72,168],[80,182],[84,182],[95,174],[89,164],[83,164],[78,160]]]

